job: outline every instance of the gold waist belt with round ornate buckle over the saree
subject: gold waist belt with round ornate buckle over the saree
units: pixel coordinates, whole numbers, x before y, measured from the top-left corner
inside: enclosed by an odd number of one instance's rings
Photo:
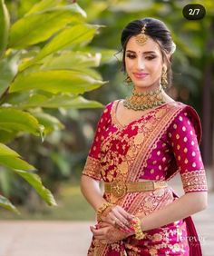
[[[105,192],[112,193],[115,197],[122,197],[127,192],[147,192],[167,187],[167,182],[104,182]]]

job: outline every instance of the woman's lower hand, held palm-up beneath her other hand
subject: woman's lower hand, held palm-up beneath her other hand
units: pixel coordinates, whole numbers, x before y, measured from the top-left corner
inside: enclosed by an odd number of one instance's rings
[[[121,241],[132,235],[133,231],[120,231],[107,222],[100,222],[95,227],[90,227],[95,239],[102,243],[113,243]]]

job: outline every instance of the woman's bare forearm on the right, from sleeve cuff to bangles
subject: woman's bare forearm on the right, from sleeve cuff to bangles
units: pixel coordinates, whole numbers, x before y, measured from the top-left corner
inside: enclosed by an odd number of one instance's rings
[[[206,209],[208,205],[208,192],[189,192],[171,202],[157,212],[144,215],[141,218],[141,230],[149,231],[171,222],[177,222],[189,217],[191,214]]]

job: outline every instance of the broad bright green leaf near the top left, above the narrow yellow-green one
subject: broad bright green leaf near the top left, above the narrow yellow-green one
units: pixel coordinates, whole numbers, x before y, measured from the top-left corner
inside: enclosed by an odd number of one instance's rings
[[[9,46],[21,49],[43,42],[68,23],[80,22],[81,18],[83,10],[77,4],[58,6],[45,13],[24,16],[12,25]]]

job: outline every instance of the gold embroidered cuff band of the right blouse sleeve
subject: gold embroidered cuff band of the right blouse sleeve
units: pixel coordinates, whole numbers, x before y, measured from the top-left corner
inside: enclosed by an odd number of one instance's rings
[[[204,169],[184,172],[181,174],[184,192],[208,191],[206,173]]]

